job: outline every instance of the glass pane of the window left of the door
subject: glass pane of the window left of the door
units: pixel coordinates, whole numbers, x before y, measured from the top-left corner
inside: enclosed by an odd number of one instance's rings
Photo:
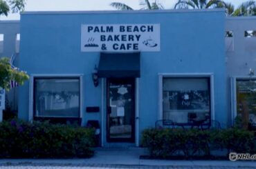
[[[35,117],[79,117],[79,79],[35,79]]]

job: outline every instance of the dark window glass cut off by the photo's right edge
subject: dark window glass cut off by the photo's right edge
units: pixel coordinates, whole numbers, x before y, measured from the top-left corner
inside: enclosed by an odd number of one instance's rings
[[[244,128],[248,128],[249,123],[256,123],[255,79],[237,80],[237,117]]]

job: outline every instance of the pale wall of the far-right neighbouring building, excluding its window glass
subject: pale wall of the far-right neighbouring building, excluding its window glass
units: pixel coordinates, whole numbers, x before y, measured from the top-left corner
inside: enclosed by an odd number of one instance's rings
[[[256,30],[256,17],[228,17],[226,31],[232,31],[233,37],[226,37],[226,72],[228,91],[228,112],[230,122],[236,115],[235,78],[250,79],[250,69],[256,70],[256,37],[246,38],[247,30]]]

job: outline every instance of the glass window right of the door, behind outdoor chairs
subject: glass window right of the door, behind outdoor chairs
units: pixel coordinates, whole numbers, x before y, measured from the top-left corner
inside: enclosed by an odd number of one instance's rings
[[[210,121],[210,78],[164,78],[163,119]]]

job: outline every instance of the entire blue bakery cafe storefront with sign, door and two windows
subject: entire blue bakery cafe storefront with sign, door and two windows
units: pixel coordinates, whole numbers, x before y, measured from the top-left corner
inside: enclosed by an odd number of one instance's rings
[[[100,123],[139,146],[158,119],[228,121],[224,10],[21,14],[19,118]]]

